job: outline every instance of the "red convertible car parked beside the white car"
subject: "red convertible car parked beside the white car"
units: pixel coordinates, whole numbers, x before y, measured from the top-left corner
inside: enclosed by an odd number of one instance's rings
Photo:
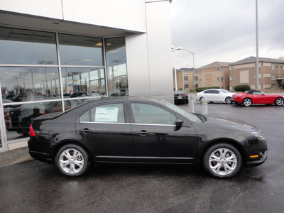
[[[233,94],[231,101],[243,104],[245,107],[249,107],[251,104],[275,104],[281,106],[284,103],[284,97],[279,94],[265,94],[259,90],[249,90]]]

